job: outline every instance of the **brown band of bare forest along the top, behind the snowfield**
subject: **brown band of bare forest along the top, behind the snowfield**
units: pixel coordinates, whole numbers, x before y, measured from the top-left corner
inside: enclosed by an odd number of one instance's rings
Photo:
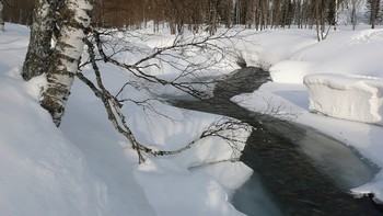
[[[5,21],[31,24],[33,0],[3,0]],[[367,5],[362,18],[357,13]],[[374,27],[381,24],[381,0],[103,0],[94,10],[93,22],[103,27],[142,27],[148,21],[169,24],[173,34],[184,27],[194,32],[201,29],[213,34],[218,25],[248,29],[314,27],[337,24],[339,11],[348,23],[362,20]],[[358,18],[359,15],[359,18]]]

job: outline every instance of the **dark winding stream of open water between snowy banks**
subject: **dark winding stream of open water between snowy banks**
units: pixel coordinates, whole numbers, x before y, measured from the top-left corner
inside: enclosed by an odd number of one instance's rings
[[[258,89],[268,77],[262,69],[244,68],[220,81],[208,101],[170,99],[178,107],[231,116],[254,127],[241,161],[255,172],[233,194],[235,208],[246,215],[383,215],[371,197],[348,193],[374,177],[379,169],[372,163],[313,128],[264,121],[230,101]]]

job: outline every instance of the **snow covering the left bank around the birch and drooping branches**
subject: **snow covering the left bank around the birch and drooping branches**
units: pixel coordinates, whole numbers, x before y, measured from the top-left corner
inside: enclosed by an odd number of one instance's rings
[[[242,162],[230,162],[239,157],[237,151],[233,155],[220,138],[201,139],[182,155],[147,157],[139,164],[128,140],[108,122],[102,103],[79,80],[56,128],[38,104],[45,77],[24,82],[20,76],[27,39],[26,27],[10,23],[0,34],[0,215],[243,215],[230,196],[253,171]],[[92,78],[89,69],[84,73]],[[101,65],[101,69],[107,71],[103,80],[113,93],[131,79],[113,66]],[[150,99],[142,92],[144,88],[129,86],[121,96]],[[137,139],[151,148],[177,149],[221,121],[221,116],[186,112],[159,101],[150,105],[166,116],[135,103],[126,103],[123,112]],[[233,133],[245,139],[249,130]]]

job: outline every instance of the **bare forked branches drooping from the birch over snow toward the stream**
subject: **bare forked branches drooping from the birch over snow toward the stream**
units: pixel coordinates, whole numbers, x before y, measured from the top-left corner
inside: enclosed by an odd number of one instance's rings
[[[130,125],[127,122],[127,117],[121,111],[121,107],[124,106],[124,103],[129,101],[134,102],[139,106],[142,107],[150,107],[148,101],[150,100],[156,100],[155,96],[153,99],[146,99],[143,101],[135,101],[132,99],[126,98],[126,99],[118,99],[124,91],[124,89],[128,86],[137,86],[139,83],[135,83],[134,81],[126,82],[116,94],[111,93],[109,90],[105,87],[103,79],[102,79],[102,71],[98,67],[98,61],[102,60],[106,64],[114,65],[118,68],[125,69],[128,71],[128,73],[136,77],[138,80],[144,80],[150,83],[155,84],[162,84],[162,86],[172,86],[177,90],[181,90],[183,92],[186,92],[187,94],[190,94],[198,99],[204,99],[208,96],[208,93],[205,91],[200,91],[195,86],[196,84],[211,84],[212,81],[204,82],[202,80],[197,81],[189,81],[184,80],[183,78],[187,76],[194,76],[193,72],[200,71],[202,69],[207,69],[211,67],[212,65],[218,64],[221,59],[213,59],[211,61],[202,62],[200,65],[198,64],[192,64],[181,56],[171,56],[171,58],[177,58],[179,60],[185,60],[185,62],[189,64],[186,68],[177,67],[177,65],[170,64],[173,68],[176,70],[179,70],[179,76],[174,78],[173,80],[166,80],[163,78],[160,78],[158,76],[149,75],[144,71],[148,67],[159,67],[158,65],[153,64],[147,64],[147,61],[150,61],[151,59],[160,59],[164,61],[165,59],[162,58],[169,50],[175,50],[179,48],[185,47],[198,47],[201,50],[209,50],[209,52],[216,52],[221,56],[220,58],[223,58],[224,50],[223,48],[219,47],[217,44],[213,44],[212,41],[218,41],[222,38],[228,38],[224,34],[218,35],[218,36],[209,36],[202,39],[192,39],[189,43],[182,43],[175,39],[172,46],[166,46],[162,48],[156,48],[153,50],[152,54],[148,55],[147,57],[143,57],[139,60],[137,60],[134,64],[125,64],[119,61],[117,58],[115,58],[115,53],[112,55],[106,55],[106,52],[104,50],[104,44],[102,41],[102,34],[93,31],[93,38],[85,39],[85,44],[88,46],[88,53],[89,53],[89,59],[84,65],[90,64],[92,66],[92,69],[94,71],[95,81],[92,81],[91,79],[86,78],[84,73],[78,72],[76,76],[79,78],[83,83],[85,83],[93,93],[103,102],[104,109],[107,113],[108,120],[115,127],[115,129],[125,136],[132,145],[132,149],[135,149],[139,156],[139,162],[144,161],[144,155],[152,155],[152,156],[170,156],[179,154],[182,151],[185,151],[196,144],[198,144],[200,140],[206,139],[208,137],[218,137],[220,139],[223,139],[233,150],[233,155],[239,156],[241,149],[239,149],[239,144],[244,144],[245,140],[237,138],[235,135],[233,135],[234,130],[239,129],[249,129],[249,126],[245,123],[241,123],[239,121],[223,117],[220,121],[217,121],[212,123],[210,126],[208,126],[198,137],[194,138],[189,143],[185,144],[183,147],[178,149],[172,149],[172,150],[159,150],[154,148],[148,147],[148,145],[141,144],[139,140],[137,140],[136,136],[134,135],[132,130],[130,129]],[[167,59],[166,62],[170,62]],[[82,66],[84,66],[82,65]],[[154,107],[151,107],[155,110]],[[231,132],[231,133],[228,133]],[[235,133],[234,133],[235,134]]]

